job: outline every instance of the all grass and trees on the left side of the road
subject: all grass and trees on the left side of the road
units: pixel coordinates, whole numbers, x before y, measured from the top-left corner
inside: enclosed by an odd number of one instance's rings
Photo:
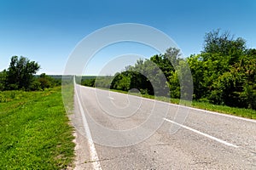
[[[61,77],[35,76],[39,68],[13,56],[0,72],[0,169],[73,167],[73,127],[61,98]],[[73,111],[73,88],[68,89],[68,111]]]

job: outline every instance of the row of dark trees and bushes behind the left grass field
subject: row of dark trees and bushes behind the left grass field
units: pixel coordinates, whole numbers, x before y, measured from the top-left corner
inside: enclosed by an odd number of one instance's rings
[[[26,57],[13,56],[9,68],[0,72],[0,91],[25,90],[36,91],[61,85],[61,80],[56,80],[45,73],[36,77],[40,65]]]

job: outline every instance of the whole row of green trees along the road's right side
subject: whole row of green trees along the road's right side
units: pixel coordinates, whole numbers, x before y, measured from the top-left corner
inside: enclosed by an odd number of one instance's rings
[[[114,77],[87,78],[82,84],[125,91],[137,88],[143,94],[180,98],[181,90],[188,88],[179,83],[188,75],[187,64],[193,77],[193,99],[256,110],[256,49],[247,48],[241,37],[234,39],[219,30],[206,34],[201,54],[184,59],[177,48],[168,48],[165,54],[137,60]]]

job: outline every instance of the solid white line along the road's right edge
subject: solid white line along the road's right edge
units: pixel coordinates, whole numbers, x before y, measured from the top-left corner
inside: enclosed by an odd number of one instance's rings
[[[90,88],[90,87],[85,87],[85,86],[81,86],[81,87],[83,87],[83,88]],[[97,88],[97,90],[102,90],[102,89]],[[102,90],[102,91],[107,91],[107,90]],[[121,94],[121,93],[112,92],[112,91],[108,91],[108,92],[113,93],[113,94]],[[121,94],[121,95],[131,95],[131,94]],[[163,104],[167,104],[167,105],[173,105],[173,106],[177,106],[177,107],[189,108],[190,110],[201,111],[203,113],[210,113],[212,115],[226,116],[226,117],[230,117],[230,118],[234,118],[234,119],[238,119],[238,120],[242,120],[242,121],[246,121],[246,122],[254,122],[254,123],[256,123],[256,120],[248,119],[248,118],[244,118],[244,117],[240,117],[240,116],[232,116],[232,115],[228,115],[228,114],[224,114],[224,113],[218,113],[218,112],[215,112],[215,111],[207,111],[207,110],[203,110],[203,109],[197,109],[197,108],[194,108],[194,107],[172,104],[172,103],[168,103],[168,102],[164,102],[164,101],[160,101],[160,100],[156,100],[156,99],[148,99],[148,98],[143,98],[143,97],[139,97],[139,96],[135,96],[135,95],[131,95],[131,96],[135,97],[135,98],[141,98],[141,99],[145,99],[145,100],[149,100],[149,101],[154,101],[154,102],[158,102],[158,103],[163,103]]]

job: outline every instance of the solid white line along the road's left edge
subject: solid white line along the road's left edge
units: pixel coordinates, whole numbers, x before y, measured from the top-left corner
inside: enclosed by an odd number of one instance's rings
[[[90,161],[92,161],[92,166],[95,170],[102,170],[101,163],[99,161],[99,157],[97,156],[96,148],[95,148],[95,145],[93,143],[91,133],[90,133],[90,128],[88,126],[88,122],[87,122],[86,117],[84,115],[84,109],[81,105],[81,101],[79,99],[79,95],[78,95],[75,83],[74,83],[74,89],[75,89],[74,90],[75,95],[77,96],[77,99],[78,99],[78,102],[79,102],[79,110],[80,110],[80,113],[82,115],[82,120],[84,122],[84,130],[85,130],[85,133],[86,133],[86,136],[87,136],[87,139],[88,139],[88,144],[89,144],[89,147],[90,147],[90,159],[91,159]]]

